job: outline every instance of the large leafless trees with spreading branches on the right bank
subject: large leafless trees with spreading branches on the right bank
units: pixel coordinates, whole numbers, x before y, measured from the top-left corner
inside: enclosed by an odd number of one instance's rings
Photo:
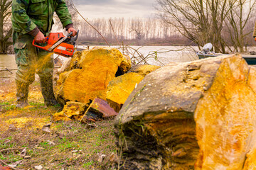
[[[212,42],[216,52],[226,52],[228,46],[223,28],[228,27],[230,38],[243,52],[247,20],[255,9],[255,0],[156,0],[161,19],[174,26],[186,38],[203,46]],[[250,8],[245,8],[250,4]],[[247,15],[245,15],[245,11]],[[237,25],[239,24],[239,26]],[[236,33],[236,37],[231,35]],[[238,33],[239,32],[239,33]],[[239,37],[239,38],[238,38]],[[238,42],[239,41],[239,42]]]

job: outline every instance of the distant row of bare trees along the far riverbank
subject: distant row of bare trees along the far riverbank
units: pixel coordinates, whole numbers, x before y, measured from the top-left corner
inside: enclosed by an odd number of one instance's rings
[[[157,18],[95,18],[89,19],[112,45],[191,45],[191,40],[166,26]],[[79,42],[84,45],[105,44],[100,34],[85,21],[75,21],[79,28]]]

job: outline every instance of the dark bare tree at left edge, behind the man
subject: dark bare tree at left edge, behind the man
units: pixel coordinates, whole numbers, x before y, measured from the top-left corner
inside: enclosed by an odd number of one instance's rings
[[[8,52],[11,33],[11,0],[0,0],[0,54]]]

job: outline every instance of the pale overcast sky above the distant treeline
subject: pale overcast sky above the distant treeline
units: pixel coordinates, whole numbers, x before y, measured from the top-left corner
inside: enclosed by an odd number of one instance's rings
[[[133,18],[154,16],[156,0],[73,0],[85,18]]]

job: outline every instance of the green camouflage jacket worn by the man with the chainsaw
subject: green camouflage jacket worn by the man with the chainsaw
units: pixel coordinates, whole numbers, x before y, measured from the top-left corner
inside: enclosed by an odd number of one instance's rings
[[[18,33],[29,33],[39,28],[48,34],[53,26],[53,13],[57,13],[63,28],[72,23],[65,0],[13,0],[12,26]]]

